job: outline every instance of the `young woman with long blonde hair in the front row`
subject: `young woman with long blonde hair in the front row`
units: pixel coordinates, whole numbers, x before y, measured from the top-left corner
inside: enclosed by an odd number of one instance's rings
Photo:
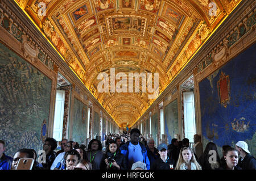
[[[180,149],[179,159],[175,170],[202,170],[199,163],[196,161],[193,150],[188,147]]]

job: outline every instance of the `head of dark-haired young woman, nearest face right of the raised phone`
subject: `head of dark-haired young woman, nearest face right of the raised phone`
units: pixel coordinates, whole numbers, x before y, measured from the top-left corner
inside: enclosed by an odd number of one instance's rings
[[[71,151],[68,151],[65,154],[64,159],[65,159],[66,170],[75,170],[76,165],[81,160],[81,156],[77,150],[73,149]]]

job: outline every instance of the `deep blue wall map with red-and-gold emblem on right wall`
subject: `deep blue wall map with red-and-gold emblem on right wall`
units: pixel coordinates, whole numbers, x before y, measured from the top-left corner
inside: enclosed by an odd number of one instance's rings
[[[203,145],[256,146],[255,45],[199,82]],[[256,155],[256,150],[250,150]],[[219,152],[221,153],[221,152]]]

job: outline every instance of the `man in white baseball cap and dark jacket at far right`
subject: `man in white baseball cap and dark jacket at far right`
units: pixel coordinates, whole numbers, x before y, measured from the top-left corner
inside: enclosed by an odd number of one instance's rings
[[[250,154],[248,150],[248,145],[245,141],[238,141],[236,143],[236,149],[238,154],[240,154],[240,159],[238,160],[238,166],[242,170],[255,170],[256,168],[256,159]]]

